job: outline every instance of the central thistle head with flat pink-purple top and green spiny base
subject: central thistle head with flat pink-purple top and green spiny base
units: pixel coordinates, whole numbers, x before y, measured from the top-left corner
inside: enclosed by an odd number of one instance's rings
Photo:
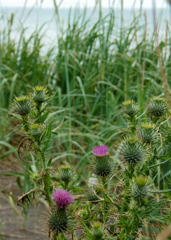
[[[101,177],[109,176],[113,171],[113,160],[108,155],[108,146],[94,147],[92,153],[95,156],[93,160],[95,174]]]

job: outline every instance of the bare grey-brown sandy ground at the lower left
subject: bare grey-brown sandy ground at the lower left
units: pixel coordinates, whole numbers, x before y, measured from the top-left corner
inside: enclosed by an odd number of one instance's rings
[[[19,164],[9,161],[1,161],[1,172],[22,172]],[[21,191],[16,183],[15,177],[0,176],[0,221],[2,227],[0,233],[3,240],[45,240],[48,239],[42,226],[42,215],[45,213],[45,206],[41,203],[32,206],[29,210],[26,229],[22,228],[23,214],[22,208],[15,206],[15,211],[11,207],[9,196],[5,193],[9,191],[16,199],[21,196]]]

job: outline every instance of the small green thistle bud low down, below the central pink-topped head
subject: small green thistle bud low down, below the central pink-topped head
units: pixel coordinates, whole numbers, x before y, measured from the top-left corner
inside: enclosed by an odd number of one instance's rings
[[[89,188],[86,194],[88,201],[94,204],[98,203],[102,197],[103,191],[104,189],[101,185],[96,185],[93,188]]]

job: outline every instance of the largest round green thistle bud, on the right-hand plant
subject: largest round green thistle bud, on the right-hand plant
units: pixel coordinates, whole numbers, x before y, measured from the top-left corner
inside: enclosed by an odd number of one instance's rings
[[[146,158],[144,145],[136,138],[130,137],[120,145],[120,156],[128,164],[142,162]]]

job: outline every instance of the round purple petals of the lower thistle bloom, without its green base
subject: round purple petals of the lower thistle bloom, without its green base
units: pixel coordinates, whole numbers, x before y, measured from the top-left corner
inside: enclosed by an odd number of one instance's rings
[[[53,193],[53,201],[57,204],[58,208],[66,208],[73,202],[73,198],[66,190],[59,189]]]

